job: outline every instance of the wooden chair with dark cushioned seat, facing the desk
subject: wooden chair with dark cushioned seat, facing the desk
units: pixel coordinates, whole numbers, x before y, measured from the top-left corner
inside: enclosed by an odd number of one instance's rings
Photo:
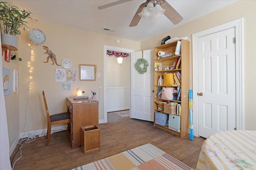
[[[58,114],[55,114],[55,115],[49,115],[48,106],[47,106],[47,103],[46,103],[46,98],[45,98],[45,95],[44,95],[44,91],[43,91],[43,97],[44,97],[44,106],[45,106],[45,110],[46,110],[47,123],[48,123],[47,133],[46,133],[46,139],[47,139],[46,146],[48,146],[49,143],[50,143],[52,125],[56,125],[56,124],[60,124],[60,123],[68,123],[68,127],[69,127],[69,125],[70,125],[70,113],[65,112],[65,113],[58,113]]]

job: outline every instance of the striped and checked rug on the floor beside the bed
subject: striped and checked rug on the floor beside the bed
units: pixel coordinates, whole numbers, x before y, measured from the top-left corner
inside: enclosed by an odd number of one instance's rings
[[[192,170],[150,143],[73,170]]]

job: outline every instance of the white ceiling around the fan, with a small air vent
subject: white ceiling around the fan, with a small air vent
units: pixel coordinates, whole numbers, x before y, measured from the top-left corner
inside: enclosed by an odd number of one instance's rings
[[[132,0],[103,10],[98,10],[98,6],[115,2],[116,0],[10,1],[20,9],[32,12],[33,19],[38,20],[38,22],[40,22],[40,20],[46,20],[51,23],[134,41],[144,41],[154,35],[164,33],[174,27],[236,2],[236,0],[167,0],[184,18],[180,23],[174,25],[166,16],[162,15],[154,20],[141,18],[137,26],[129,27],[138,7],[140,4],[146,2],[146,0]],[[102,31],[103,27],[115,29],[116,31]]]

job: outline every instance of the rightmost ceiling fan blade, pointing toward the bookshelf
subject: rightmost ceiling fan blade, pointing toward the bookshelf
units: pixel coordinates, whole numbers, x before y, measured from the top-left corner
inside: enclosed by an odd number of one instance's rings
[[[161,4],[161,7],[166,9],[164,12],[164,15],[172,21],[175,25],[183,20],[183,17],[176,11],[166,0],[164,0],[164,3]]]

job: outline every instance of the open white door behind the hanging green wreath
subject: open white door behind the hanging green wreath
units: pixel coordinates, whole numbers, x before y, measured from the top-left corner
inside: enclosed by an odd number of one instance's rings
[[[143,57],[142,57],[143,56]],[[138,59],[148,61],[147,72],[140,74],[134,67]],[[144,67],[144,64],[141,65]],[[154,121],[154,50],[131,53],[131,118]]]

